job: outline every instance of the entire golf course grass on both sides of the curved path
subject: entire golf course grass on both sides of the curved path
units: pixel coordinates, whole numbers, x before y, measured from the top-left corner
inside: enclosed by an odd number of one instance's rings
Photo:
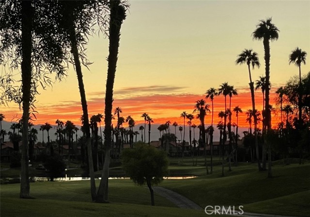
[[[294,159],[291,162],[294,162]],[[213,174],[205,175],[203,157],[198,159],[198,166],[195,167],[192,166],[190,157],[185,158],[183,162],[178,158],[172,158],[171,176],[199,175],[200,177],[165,180],[160,186],[178,192],[203,208],[207,205],[243,205],[243,210],[246,212],[304,217],[309,216],[310,213],[310,163],[305,162],[303,165],[286,166],[283,166],[281,161],[274,162],[273,178],[266,178],[267,171],[258,172],[255,163],[239,163],[237,167],[232,167],[233,171],[231,172],[227,171],[228,168],[225,165],[225,176],[223,177],[221,176],[221,166],[214,167]],[[1,176],[4,172],[9,171],[10,174],[13,174],[18,170],[1,171]],[[70,171],[74,174],[79,169]],[[120,174],[122,169],[115,163],[111,171],[114,174]],[[97,173],[100,174],[100,172]],[[113,172],[111,173],[113,174]],[[99,185],[99,181],[96,185]],[[31,206],[32,200],[17,199],[19,187],[19,184],[1,185],[1,214],[27,217],[28,214],[21,215],[20,212],[23,209],[32,210],[25,208]],[[42,207],[46,207],[46,210],[42,209],[42,212],[49,212],[49,209],[51,212],[56,210],[57,215],[54,216],[60,217],[64,215],[81,216],[82,214],[89,216],[94,213],[96,216],[103,214],[108,217],[122,217],[127,211],[128,216],[206,215],[203,211],[190,210],[189,213],[183,209],[180,211],[173,207],[174,204],[159,195],[155,195],[155,204],[160,207],[151,207],[149,206],[148,188],[136,186],[130,180],[109,181],[109,201],[111,202],[109,204],[91,203],[89,188],[89,181],[31,183],[31,196],[37,199],[34,202],[35,207],[42,203]],[[16,204],[20,204],[20,206],[17,207]],[[46,204],[53,204],[52,208],[47,207]],[[61,207],[61,204],[64,207]],[[11,208],[9,209],[7,206]],[[83,212],[74,210],[80,210],[78,207],[86,207],[86,210]],[[32,212],[33,215],[29,215],[32,217],[40,213],[37,209],[29,212]]]

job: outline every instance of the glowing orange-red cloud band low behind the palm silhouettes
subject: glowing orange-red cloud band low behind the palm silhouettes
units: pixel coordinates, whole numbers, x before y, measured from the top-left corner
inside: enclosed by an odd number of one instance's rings
[[[130,92],[130,90],[132,92]],[[155,92],[159,93],[153,93]],[[144,120],[141,118],[141,114],[146,112],[149,114],[151,118],[153,118],[155,124],[164,124],[166,121],[170,120],[172,123],[177,122],[179,125],[183,125],[184,120],[180,117],[180,114],[183,111],[187,113],[192,113],[194,110],[194,105],[197,100],[204,99],[207,104],[210,105],[210,99],[205,99],[204,94],[192,94],[192,93],[181,93],[181,94],[162,94],[160,92],[164,92],[164,90],[177,90],[179,87],[173,88],[165,88],[164,86],[154,86],[150,88],[150,92],[145,91],[145,88],[125,88],[122,91],[126,94],[115,94],[115,99],[113,102],[113,108],[121,107],[123,110],[122,116],[126,117],[131,115],[137,124],[144,123]],[[138,90],[138,91],[137,91]],[[140,94],[140,90],[143,90],[143,94]],[[249,89],[247,87],[237,88],[238,95],[233,96],[231,108],[233,109],[236,106],[239,106],[243,113],[239,115],[239,125],[240,126],[248,126],[246,123],[246,114],[245,112],[248,109],[252,109],[251,106],[251,97],[249,93]],[[117,91],[116,91],[117,92]],[[128,93],[129,92],[129,93]],[[137,94],[138,93],[138,94]],[[88,100],[88,109],[89,116],[97,113],[104,113],[104,95],[103,93],[90,93],[91,98]],[[275,91],[272,90],[270,92],[270,102],[275,107]],[[255,93],[255,102],[256,108],[258,110],[262,110],[263,103],[263,95],[261,91],[256,91]],[[229,107],[229,97],[227,97],[227,107]],[[219,118],[217,116],[218,112],[224,110],[224,96],[220,95],[214,98],[214,124],[217,124]],[[59,104],[52,105],[37,105],[36,110],[39,112],[36,114],[37,120],[35,124],[43,124],[45,122],[49,122],[54,124],[57,119],[62,121],[71,120],[75,124],[80,124],[79,118],[82,114],[81,103],[78,101],[63,101]],[[18,109],[9,110],[5,109],[5,111],[1,111],[7,117],[7,121],[11,119],[11,117],[17,116],[20,117],[21,111]],[[205,124],[211,124],[211,113],[208,113],[205,118]],[[115,121],[114,121],[115,122]],[[187,120],[186,120],[187,122]],[[232,116],[232,122],[236,123],[235,114]],[[273,124],[279,122],[279,116],[273,114]],[[193,123],[199,124],[199,120],[193,120]],[[114,123],[115,124],[115,123]]]

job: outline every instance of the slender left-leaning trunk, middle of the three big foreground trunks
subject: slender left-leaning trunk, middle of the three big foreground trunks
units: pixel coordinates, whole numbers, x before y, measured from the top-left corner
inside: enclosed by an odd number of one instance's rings
[[[72,23],[71,30],[70,30],[70,41],[71,41],[71,52],[74,57],[75,62],[75,68],[77,72],[78,77],[78,89],[81,97],[81,104],[82,104],[82,110],[83,110],[83,128],[86,134],[86,147],[87,147],[87,155],[88,155],[88,164],[89,164],[89,172],[90,172],[90,178],[91,178],[91,195],[92,200],[95,200],[96,196],[96,185],[95,185],[95,178],[94,178],[94,171],[93,171],[93,154],[92,154],[92,147],[91,147],[91,133],[90,133],[90,125],[89,125],[89,119],[88,119],[88,109],[87,109],[87,100],[86,100],[86,94],[85,94],[85,88],[83,83],[83,74],[81,69],[81,64],[78,59],[78,45],[77,45],[77,38],[75,34],[75,27]],[[70,157],[70,152],[69,152]],[[70,161],[69,161],[70,162]]]

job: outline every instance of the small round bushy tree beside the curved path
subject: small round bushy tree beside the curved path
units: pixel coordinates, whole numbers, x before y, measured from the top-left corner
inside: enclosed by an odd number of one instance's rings
[[[151,193],[151,204],[155,205],[152,186],[163,181],[168,175],[168,158],[164,151],[140,144],[133,149],[125,149],[122,163],[126,174],[137,185],[147,185]]]

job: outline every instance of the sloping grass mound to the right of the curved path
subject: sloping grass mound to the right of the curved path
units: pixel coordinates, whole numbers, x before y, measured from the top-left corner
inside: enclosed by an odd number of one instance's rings
[[[212,175],[195,179],[167,180],[161,186],[184,195],[202,207],[244,205],[245,211],[262,213],[262,206],[270,202],[271,205],[264,209],[265,213],[285,213],[292,216],[307,216],[305,214],[310,213],[309,200],[297,200],[291,207],[276,205],[277,200],[284,204],[289,202],[285,196],[297,199],[295,193],[309,192],[310,164],[274,166],[274,178],[266,178],[267,171],[258,172],[253,164],[233,167],[233,171],[226,171],[224,177],[220,176],[219,167],[215,169]],[[253,205],[246,206],[247,204]]]

